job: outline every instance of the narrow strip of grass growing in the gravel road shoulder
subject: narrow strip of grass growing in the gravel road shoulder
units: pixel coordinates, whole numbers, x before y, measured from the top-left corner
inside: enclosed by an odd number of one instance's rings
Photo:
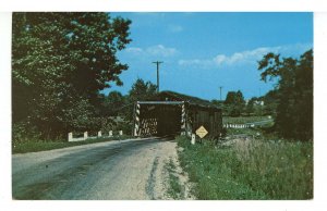
[[[179,177],[175,175],[175,166],[172,160],[170,160],[169,163],[166,163],[165,167],[168,171],[168,196],[173,199],[181,199],[182,186],[179,182]]]

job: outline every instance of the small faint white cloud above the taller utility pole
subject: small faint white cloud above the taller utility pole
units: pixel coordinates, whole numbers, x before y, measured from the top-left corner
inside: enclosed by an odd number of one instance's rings
[[[175,48],[168,48],[164,45],[150,46],[147,48],[136,48],[131,47],[125,50],[125,52],[131,53],[133,55],[143,55],[143,57],[172,57],[178,53]]]

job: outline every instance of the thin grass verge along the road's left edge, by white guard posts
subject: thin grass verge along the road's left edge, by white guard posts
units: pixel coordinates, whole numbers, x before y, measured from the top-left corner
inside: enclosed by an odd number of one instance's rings
[[[88,145],[95,142],[104,142],[110,140],[123,140],[126,138],[131,138],[131,136],[122,135],[122,136],[112,136],[108,138],[95,138],[87,139],[82,141],[72,141],[68,142],[66,140],[37,140],[31,139],[27,141],[13,141],[12,142],[12,153],[26,153],[26,152],[36,152],[36,151],[46,151],[51,149],[60,149],[80,145]]]

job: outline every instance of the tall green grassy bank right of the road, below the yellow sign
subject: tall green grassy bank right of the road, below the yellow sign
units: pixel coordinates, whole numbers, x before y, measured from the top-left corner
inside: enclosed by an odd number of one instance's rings
[[[313,144],[240,140],[231,146],[190,144],[179,158],[198,199],[312,199]]]

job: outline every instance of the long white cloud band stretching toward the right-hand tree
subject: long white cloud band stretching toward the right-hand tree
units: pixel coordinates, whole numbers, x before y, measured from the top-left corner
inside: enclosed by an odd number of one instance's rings
[[[253,50],[246,50],[241,52],[234,52],[230,55],[217,54],[214,58],[208,59],[191,59],[180,60],[180,65],[197,65],[202,67],[218,67],[222,65],[243,65],[255,64],[268,52],[281,53],[282,57],[294,57],[302,54],[305,50],[312,48],[311,44],[298,44],[289,46],[278,47],[261,47]]]

